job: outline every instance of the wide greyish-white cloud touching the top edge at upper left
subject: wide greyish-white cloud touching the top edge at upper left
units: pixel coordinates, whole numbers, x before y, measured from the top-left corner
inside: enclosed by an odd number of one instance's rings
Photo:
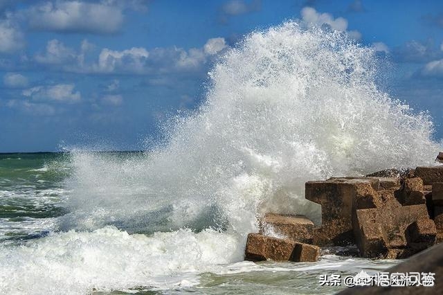
[[[114,4],[115,1],[47,1],[31,7],[26,17],[35,30],[111,34],[123,24],[123,10]]]

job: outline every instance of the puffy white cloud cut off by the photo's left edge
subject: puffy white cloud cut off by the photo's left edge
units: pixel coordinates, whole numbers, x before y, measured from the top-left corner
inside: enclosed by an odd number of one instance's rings
[[[0,21],[0,53],[15,53],[24,46],[23,33],[10,21],[9,17]]]

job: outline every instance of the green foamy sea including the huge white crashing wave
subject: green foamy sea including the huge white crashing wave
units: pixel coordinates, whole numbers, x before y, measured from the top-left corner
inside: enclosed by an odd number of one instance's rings
[[[352,248],[243,261],[264,213],[320,223],[305,181],[433,164],[431,118],[381,90],[379,64],[289,21],[224,53],[205,102],[146,152],[0,154],[0,293],[333,294],[321,275],[395,265],[336,253]]]

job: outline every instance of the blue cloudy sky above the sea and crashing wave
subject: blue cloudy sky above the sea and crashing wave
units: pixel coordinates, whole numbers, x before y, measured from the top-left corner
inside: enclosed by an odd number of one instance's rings
[[[443,1],[0,0],[0,152],[143,150],[217,55],[289,19],[386,56],[387,91],[443,137]]]

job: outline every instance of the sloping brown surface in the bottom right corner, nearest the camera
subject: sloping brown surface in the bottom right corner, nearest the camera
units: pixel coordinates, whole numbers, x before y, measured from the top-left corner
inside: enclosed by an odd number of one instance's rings
[[[404,294],[422,294],[422,295],[435,295],[443,294],[443,244],[437,244],[429,249],[426,249],[415,256],[401,262],[395,267],[387,269],[390,274],[392,273],[410,273],[410,272],[426,272],[435,274],[435,285],[433,287],[353,287],[347,288],[340,295],[353,295],[358,293],[359,295],[370,294],[392,294],[392,295],[404,295]]]

